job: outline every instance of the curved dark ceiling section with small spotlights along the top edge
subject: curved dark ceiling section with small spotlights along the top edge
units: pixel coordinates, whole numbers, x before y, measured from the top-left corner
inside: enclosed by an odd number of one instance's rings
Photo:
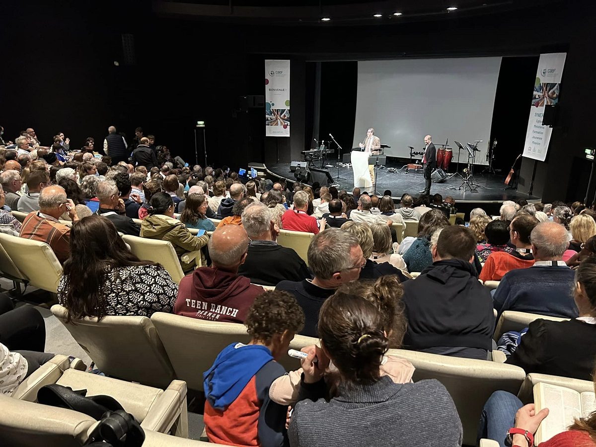
[[[560,0],[155,0],[153,11],[161,17],[219,20],[273,25],[372,25],[404,21],[473,17],[527,8],[550,8]],[[457,7],[448,11],[449,7]],[[396,16],[395,13],[401,13]],[[374,17],[381,14],[381,17]],[[321,21],[323,17],[331,20]]]

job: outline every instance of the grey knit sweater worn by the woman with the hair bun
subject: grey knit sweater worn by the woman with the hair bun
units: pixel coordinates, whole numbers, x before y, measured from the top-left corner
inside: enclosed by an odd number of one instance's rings
[[[321,383],[301,383],[300,396],[314,397]],[[291,417],[290,446],[461,446],[462,427],[451,396],[437,380],[340,386],[330,402],[304,400]]]

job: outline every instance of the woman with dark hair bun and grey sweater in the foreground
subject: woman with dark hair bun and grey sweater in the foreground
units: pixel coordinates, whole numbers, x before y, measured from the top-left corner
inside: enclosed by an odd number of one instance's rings
[[[461,445],[461,421],[442,384],[397,384],[381,375],[389,348],[383,323],[377,307],[359,296],[338,293],[325,300],[318,324],[321,348],[303,349],[308,356],[302,360],[290,445]],[[337,396],[327,402],[321,398],[328,366],[339,379]]]

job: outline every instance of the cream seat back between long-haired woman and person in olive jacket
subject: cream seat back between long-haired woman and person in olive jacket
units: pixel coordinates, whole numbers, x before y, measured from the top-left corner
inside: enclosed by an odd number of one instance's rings
[[[184,272],[182,271],[180,260],[178,259],[178,255],[176,254],[176,250],[174,250],[172,243],[131,235],[123,235],[122,239],[131,247],[131,252],[139,259],[159,262],[170,274],[172,281],[176,284],[180,284],[180,281],[184,278]],[[200,250],[188,252],[182,256],[184,262],[193,258],[195,259],[195,262],[197,262],[197,267],[200,267]]]

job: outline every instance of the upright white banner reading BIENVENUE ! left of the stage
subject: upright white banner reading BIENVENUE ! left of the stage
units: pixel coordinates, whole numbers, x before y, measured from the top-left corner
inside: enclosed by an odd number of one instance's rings
[[[265,60],[265,135],[290,136],[289,60]]]

